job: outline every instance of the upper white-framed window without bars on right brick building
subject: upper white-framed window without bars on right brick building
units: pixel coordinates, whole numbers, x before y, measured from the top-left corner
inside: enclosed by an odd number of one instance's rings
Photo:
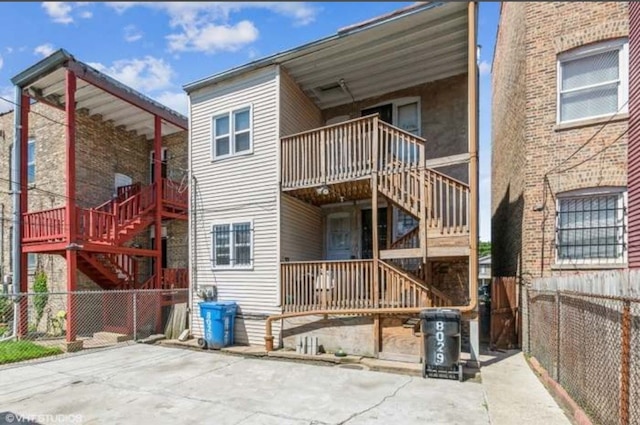
[[[558,56],[557,122],[627,112],[629,43],[626,38]]]

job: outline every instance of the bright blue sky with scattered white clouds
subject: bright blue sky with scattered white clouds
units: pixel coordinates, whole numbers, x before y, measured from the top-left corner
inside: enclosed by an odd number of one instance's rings
[[[0,3],[0,97],[59,48],[186,115],[185,83],[411,2]],[[480,239],[491,239],[491,60],[499,3],[481,3]],[[0,99],[0,112],[11,108]]]

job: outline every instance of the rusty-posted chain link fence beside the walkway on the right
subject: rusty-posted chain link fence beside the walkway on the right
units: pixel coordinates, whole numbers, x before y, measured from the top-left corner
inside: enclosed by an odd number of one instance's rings
[[[629,288],[623,273],[606,284]],[[640,425],[640,297],[550,279],[527,291],[529,354],[594,423]]]

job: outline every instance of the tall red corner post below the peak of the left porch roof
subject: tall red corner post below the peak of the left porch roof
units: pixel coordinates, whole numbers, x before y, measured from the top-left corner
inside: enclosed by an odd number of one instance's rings
[[[71,244],[76,243],[76,75],[67,69],[65,84],[66,118],[66,175],[67,208],[65,212],[67,246],[67,342],[76,340],[76,297],[70,292],[77,290],[78,258],[77,250]]]

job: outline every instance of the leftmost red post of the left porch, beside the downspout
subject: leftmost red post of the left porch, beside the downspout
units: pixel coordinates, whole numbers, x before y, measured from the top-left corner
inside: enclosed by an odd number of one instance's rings
[[[24,252],[22,247],[22,240],[24,236],[24,213],[29,211],[29,179],[27,162],[29,155],[29,110],[31,109],[29,104],[29,97],[22,93],[21,88],[17,88],[20,93],[16,93],[16,100],[18,100],[18,108],[16,114],[16,138],[14,142],[14,165],[17,167],[13,172],[12,183],[14,193],[18,194],[19,200],[17,209],[16,223],[13,232],[14,243],[17,247],[20,247],[16,251],[20,253],[19,257],[15,258],[14,271],[18,271],[15,275],[16,285],[18,285],[18,292],[25,293],[29,291],[29,275],[28,275],[28,254]],[[14,197],[15,201],[15,197]],[[29,328],[29,311],[28,311],[28,297],[20,299],[19,303],[19,317],[18,317],[18,336],[25,336]]]

